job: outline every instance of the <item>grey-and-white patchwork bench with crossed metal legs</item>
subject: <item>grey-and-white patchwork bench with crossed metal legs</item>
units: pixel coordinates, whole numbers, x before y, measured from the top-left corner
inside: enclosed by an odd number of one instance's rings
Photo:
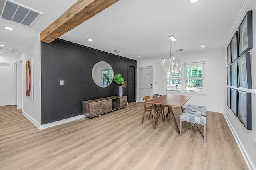
[[[188,105],[186,109],[182,112],[180,115],[180,136],[182,135],[182,132],[190,129],[191,127],[188,127],[187,129],[182,131],[182,121],[194,123],[193,126],[196,126],[197,124],[204,125],[204,135],[200,131],[201,135],[204,137],[204,143],[206,143],[206,107],[205,106],[196,106],[196,105]]]

